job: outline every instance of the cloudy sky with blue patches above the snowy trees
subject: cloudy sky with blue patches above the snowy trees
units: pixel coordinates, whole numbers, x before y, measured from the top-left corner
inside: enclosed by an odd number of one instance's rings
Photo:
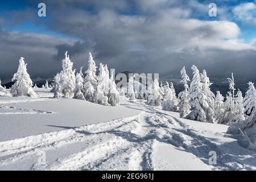
[[[46,17],[38,4],[46,4]],[[209,16],[215,3],[217,16]],[[32,78],[53,77],[68,51],[74,68],[180,75],[195,64],[210,78],[256,81],[256,2],[56,0],[0,2],[0,78],[25,58]]]

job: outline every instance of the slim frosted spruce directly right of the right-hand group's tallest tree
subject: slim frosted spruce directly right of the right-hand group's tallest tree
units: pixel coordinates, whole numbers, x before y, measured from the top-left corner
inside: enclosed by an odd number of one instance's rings
[[[202,92],[207,97],[207,100],[205,100],[208,104],[208,107],[206,108],[207,111],[207,120],[210,122],[215,122],[215,114],[214,114],[214,93],[210,90],[210,85],[212,83],[209,80],[209,77],[207,76],[207,72],[205,69],[203,70],[203,73],[200,75],[201,82],[202,82]]]

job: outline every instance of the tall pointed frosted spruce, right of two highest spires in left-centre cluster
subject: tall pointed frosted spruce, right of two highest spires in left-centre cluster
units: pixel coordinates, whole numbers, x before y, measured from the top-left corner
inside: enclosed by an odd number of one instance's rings
[[[86,101],[93,102],[93,94],[97,88],[96,64],[92,54],[89,52],[88,68],[85,71],[84,78],[84,96]]]

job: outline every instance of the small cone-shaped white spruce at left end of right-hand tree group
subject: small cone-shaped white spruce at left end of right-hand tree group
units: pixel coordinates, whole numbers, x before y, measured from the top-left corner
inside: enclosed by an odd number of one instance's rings
[[[148,95],[147,105],[150,106],[160,106],[162,104],[163,97],[160,94],[160,87],[158,79],[155,78],[154,82],[152,83],[152,90]]]

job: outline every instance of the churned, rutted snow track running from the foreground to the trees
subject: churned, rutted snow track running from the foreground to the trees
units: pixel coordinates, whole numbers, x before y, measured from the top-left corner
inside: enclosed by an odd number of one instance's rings
[[[72,148],[67,155],[56,155],[45,165],[35,162],[30,169],[154,170],[156,141],[191,153],[196,160],[213,170],[256,169],[256,159],[246,159],[246,154],[251,152],[245,148],[240,148],[245,152],[244,156],[240,156],[232,144],[222,146],[167,111],[138,105],[146,109],[133,117],[0,142],[0,169],[30,158],[37,159],[40,151],[47,154],[54,150]],[[37,113],[38,110],[33,112]],[[82,147],[73,148],[74,144]],[[209,151],[217,152],[216,166],[208,163]]]

